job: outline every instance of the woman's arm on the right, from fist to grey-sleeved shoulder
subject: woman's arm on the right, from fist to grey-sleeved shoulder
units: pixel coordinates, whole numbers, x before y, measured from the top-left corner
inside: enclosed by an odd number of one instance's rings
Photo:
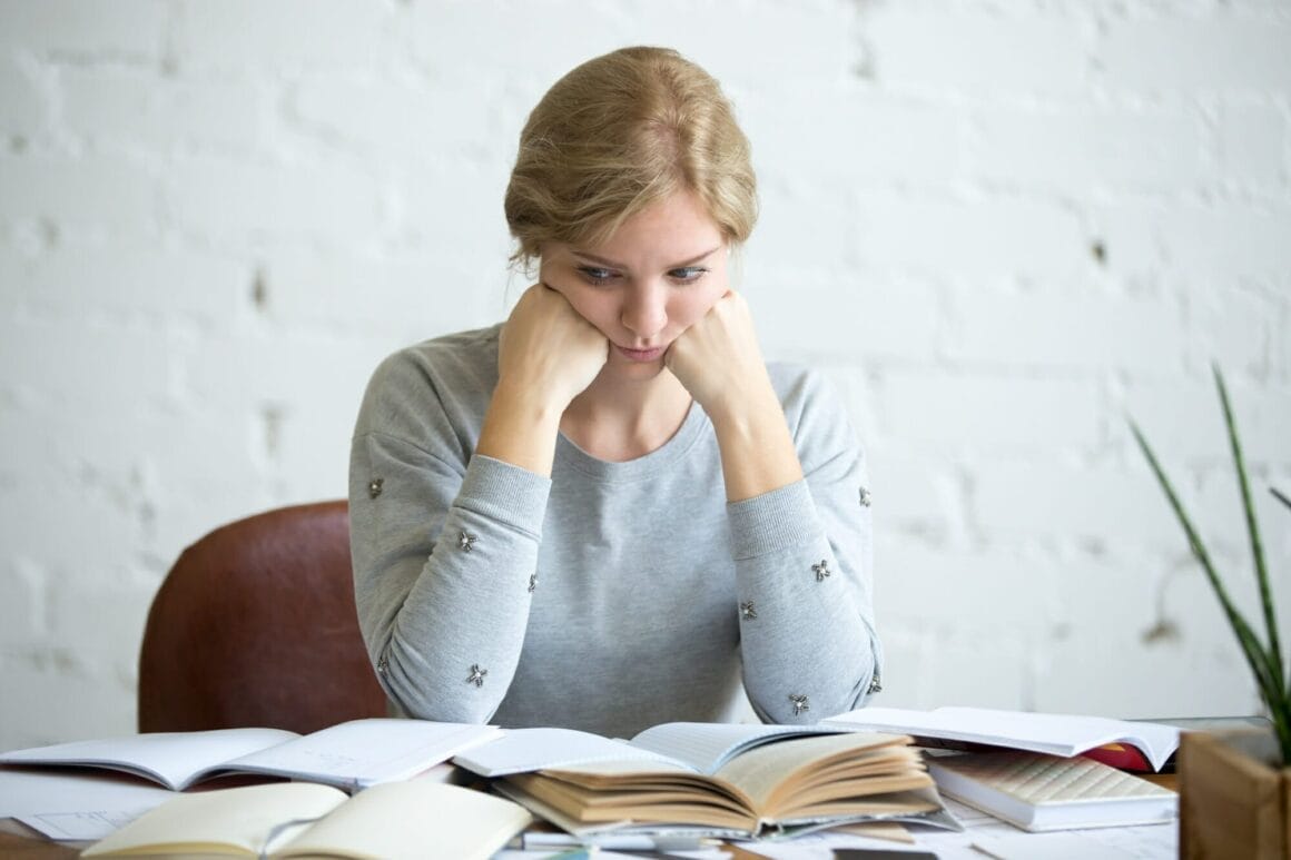
[[[851,710],[870,691],[880,651],[864,460],[846,413],[804,376],[788,393],[790,431],[733,293],[678,338],[669,367],[718,438],[754,709],[771,722]]]

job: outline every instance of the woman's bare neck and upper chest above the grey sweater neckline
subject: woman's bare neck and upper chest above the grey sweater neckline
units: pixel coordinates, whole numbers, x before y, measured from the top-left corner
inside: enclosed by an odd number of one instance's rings
[[[564,411],[560,433],[598,460],[626,462],[664,447],[689,409],[689,393],[666,369],[649,380],[603,373]]]

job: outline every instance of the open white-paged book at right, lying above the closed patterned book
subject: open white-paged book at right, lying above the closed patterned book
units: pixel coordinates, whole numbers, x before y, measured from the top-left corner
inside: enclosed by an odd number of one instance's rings
[[[989,708],[861,708],[821,721],[821,724],[913,735],[922,746],[948,745],[945,741],[951,741],[1065,757],[1110,744],[1126,744],[1143,753],[1154,771],[1159,771],[1179,749],[1176,726]]]

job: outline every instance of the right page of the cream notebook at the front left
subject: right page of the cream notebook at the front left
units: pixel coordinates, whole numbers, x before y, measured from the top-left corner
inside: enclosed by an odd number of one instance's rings
[[[487,860],[533,816],[511,801],[431,780],[356,794],[274,857],[354,856]]]

